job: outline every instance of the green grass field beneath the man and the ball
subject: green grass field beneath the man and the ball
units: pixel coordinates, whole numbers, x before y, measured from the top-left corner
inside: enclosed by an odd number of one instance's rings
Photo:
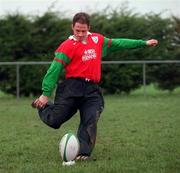
[[[105,96],[93,156],[63,167],[60,138],[76,132],[78,114],[53,130],[31,99],[0,99],[0,173],[179,173],[180,94]]]

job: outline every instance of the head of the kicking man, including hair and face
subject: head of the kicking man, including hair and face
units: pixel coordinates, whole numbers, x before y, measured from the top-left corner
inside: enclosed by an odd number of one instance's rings
[[[90,29],[90,17],[87,13],[77,13],[73,17],[72,30],[77,40],[86,40]]]

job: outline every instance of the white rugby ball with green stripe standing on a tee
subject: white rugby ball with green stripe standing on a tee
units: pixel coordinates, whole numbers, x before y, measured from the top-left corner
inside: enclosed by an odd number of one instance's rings
[[[74,160],[79,153],[79,148],[79,140],[76,135],[73,133],[65,134],[59,143],[62,160],[65,162]]]

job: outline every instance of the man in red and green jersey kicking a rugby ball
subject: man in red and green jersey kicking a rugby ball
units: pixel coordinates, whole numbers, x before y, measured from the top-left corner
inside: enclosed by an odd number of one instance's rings
[[[38,109],[41,120],[52,128],[59,128],[77,110],[80,125],[77,136],[80,151],[77,160],[89,159],[96,141],[97,122],[103,111],[104,101],[98,83],[101,79],[101,57],[108,53],[145,46],[156,46],[151,39],[109,39],[90,33],[89,15],[77,13],[72,22],[73,35],[55,51],[54,60],[42,82],[42,95],[32,106]],[[59,74],[65,68],[65,81],[57,84],[54,103],[48,101]]]

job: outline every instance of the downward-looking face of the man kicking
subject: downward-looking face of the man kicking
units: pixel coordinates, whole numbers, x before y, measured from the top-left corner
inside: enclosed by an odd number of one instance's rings
[[[89,29],[90,27],[87,24],[76,22],[74,26],[72,25],[73,34],[78,41],[86,40]]]

